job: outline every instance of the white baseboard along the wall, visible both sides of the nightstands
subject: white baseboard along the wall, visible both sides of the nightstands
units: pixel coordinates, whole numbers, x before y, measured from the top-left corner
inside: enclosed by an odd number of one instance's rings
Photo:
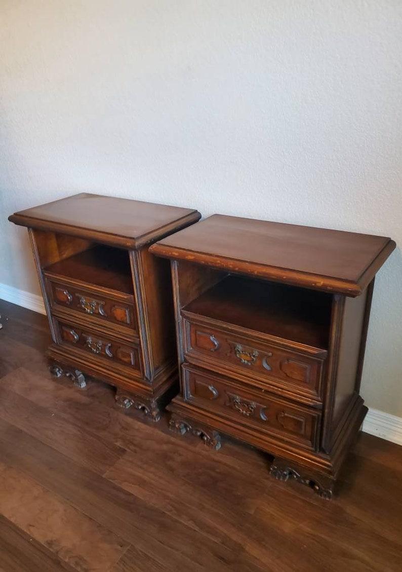
[[[0,298],[34,312],[46,314],[42,296],[0,283]],[[396,415],[369,409],[363,423],[363,431],[402,445],[402,418]]]

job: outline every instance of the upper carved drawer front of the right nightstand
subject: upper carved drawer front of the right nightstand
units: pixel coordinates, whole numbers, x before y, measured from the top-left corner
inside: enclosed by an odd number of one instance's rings
[[[286,387],[289,391],[321,399],[323,360],[246,339],[208,325],[185,321],[185,352],[205,360],[208,369],[231,371],[259,380],[266,386]]]

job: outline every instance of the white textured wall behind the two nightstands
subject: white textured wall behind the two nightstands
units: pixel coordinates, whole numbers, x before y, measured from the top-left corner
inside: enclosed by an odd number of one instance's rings
[[[89,191],[402,244],[401,0],[0,0],[0,282],[14,210]],[[402,259],[363,395],[402,416]]]

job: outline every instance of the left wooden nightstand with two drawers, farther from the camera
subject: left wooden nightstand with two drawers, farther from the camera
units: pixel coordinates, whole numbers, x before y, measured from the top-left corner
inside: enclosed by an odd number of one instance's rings
[[[149,244],[200,219],[197,210],[82,193],[22,210],[53,344],[51,371],[117,387],[116,401],[153,420],[178,391],[169,263]]]

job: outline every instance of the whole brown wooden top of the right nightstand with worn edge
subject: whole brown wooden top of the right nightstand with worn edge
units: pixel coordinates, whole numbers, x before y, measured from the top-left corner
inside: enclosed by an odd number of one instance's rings
[[[151,251],[268,280],[358,296],[395,243],[383,236],[213,215]]]

